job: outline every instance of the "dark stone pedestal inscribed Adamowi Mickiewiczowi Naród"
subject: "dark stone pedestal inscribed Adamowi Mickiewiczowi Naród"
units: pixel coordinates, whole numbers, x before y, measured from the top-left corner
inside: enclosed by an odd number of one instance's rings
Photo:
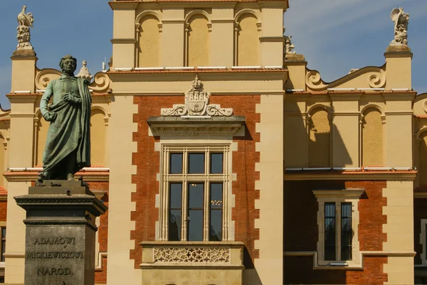
[[[26,210],[25,285],[95,284],[95,218],[105,213],[83,181],[43,181],[15,197]]]

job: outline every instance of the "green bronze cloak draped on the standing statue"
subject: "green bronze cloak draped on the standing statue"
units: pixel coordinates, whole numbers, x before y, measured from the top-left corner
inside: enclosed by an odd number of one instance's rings
[[[90,105],[92,97],[85,79],[78,78],[81,104],[65,102],[63,99],[51,104],[48,109],[56,113],[51,122],[43,154],[43,171],[53,176],[63,171],[64,158],[73,153],[76,158],[75,172],[90,166]]]

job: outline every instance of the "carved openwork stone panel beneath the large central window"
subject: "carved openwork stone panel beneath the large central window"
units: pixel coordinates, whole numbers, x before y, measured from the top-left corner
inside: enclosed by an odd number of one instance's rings
[[[230,263],[228,248],[154,248],[154,262],[163,263]]]

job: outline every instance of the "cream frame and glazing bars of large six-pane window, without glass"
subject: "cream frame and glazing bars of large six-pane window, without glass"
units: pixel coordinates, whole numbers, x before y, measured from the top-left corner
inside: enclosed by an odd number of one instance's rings
[[[182,153],[183,173],[169,173],[169,159],[172,153]],[[189,153],[205,154],[205,173],[189,174]],[[209,173],[211,153],[223,154],[223,173]],[[182,217],[186,217],[188,210],[188,183],[204,183],[204,234],[203,241],[209,242],[209,213],[210,213],[210,183],[223,183],[222,207],[222,241],[231,240],[229,225],[231,225],[231,144],[162,144],[160,152],[160,207],[159,207],[159,240],[167,241],[169,238],[169,184],[182,183]],[[181,219],[181,242],[186,241],[186,218]]]

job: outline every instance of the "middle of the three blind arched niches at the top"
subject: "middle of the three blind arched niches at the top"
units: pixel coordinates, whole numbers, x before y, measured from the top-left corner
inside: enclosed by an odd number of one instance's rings
[[[209,20],[202,14],[191,16],[187,32],[187,66],[209,66]]]

